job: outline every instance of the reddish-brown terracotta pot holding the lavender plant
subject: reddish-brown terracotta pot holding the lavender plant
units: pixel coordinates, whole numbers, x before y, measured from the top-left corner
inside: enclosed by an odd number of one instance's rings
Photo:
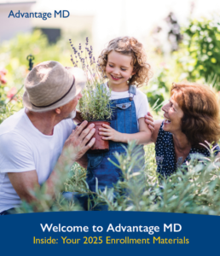
[[[90,148],[89,152],[93,154],[107,152],[109,150],[109,141],[102,140],[101,137],[103,137],[103,135],[99,135],[99,128],[103,127],[102,124],[110,125],[110,123],[107,121],[92,121],[88,123],[88,125],[90,124],[95,125],[94,128],[96,128],[96,132],[94,133],[93,137],[96,137],[96,142],[92,148]]]

